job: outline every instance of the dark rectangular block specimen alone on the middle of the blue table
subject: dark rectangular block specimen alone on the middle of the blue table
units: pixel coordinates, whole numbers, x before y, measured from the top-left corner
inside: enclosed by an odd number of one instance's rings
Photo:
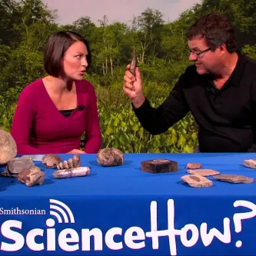
[[[154,174],[175,172],[178,171],[178,162],[168,159],[141,161],[141,171],[146,171]]]

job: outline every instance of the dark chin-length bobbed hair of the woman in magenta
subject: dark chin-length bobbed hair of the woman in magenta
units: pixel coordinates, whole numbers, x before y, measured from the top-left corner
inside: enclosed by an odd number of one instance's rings
[[[87,48],[88,55],[86,56],[88,62],[88,69],[91,65],[91,51],[88,42],[76,32],[61,31],[55,32],[48,39],[45,48],[44,68],[48,75],[58,77],[62,71],[62,58],[68,48],[75,42],[83,42]]]

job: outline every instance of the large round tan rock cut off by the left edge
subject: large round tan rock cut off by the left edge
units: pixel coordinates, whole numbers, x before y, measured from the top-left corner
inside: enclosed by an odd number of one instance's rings
[[[8,161],[17,155],[17,145],[8,131],[0,128],[0,165],[6,165]]]

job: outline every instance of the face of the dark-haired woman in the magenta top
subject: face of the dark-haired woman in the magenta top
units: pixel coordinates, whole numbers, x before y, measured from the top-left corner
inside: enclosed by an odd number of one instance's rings
[[[72,44],[62,58],[62,68],[65,77],[71,80],[81,80],[85,75],[88,62],[88,50],[83,42]]]

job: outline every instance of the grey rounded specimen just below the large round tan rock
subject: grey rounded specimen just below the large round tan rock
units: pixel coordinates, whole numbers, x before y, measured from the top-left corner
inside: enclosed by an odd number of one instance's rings
[[[21,171],[34,166],[34,162],[31,158],[27,158],[26,156],[14,158],[11,161],[8,161],[5,171],[0,172],[0,175],[5,177],[17,177]]]

